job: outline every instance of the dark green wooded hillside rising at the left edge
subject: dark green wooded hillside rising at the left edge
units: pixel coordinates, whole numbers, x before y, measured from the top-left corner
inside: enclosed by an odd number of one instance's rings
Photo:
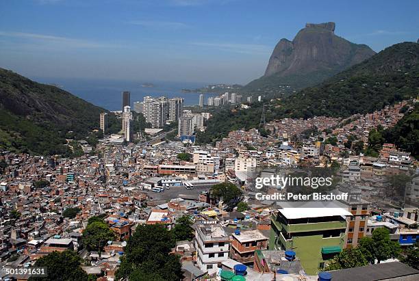
[[[103,111],[60,88],[0,68],[0,150],[65,154],[66,138],[98,129]]]

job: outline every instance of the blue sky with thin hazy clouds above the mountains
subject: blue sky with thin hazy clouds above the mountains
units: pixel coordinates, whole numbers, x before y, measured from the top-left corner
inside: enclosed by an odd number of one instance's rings
[[[28,77],[247,83],[305,23],[380,51],[419,37],[419,1],[1,0],[0,67]]]

